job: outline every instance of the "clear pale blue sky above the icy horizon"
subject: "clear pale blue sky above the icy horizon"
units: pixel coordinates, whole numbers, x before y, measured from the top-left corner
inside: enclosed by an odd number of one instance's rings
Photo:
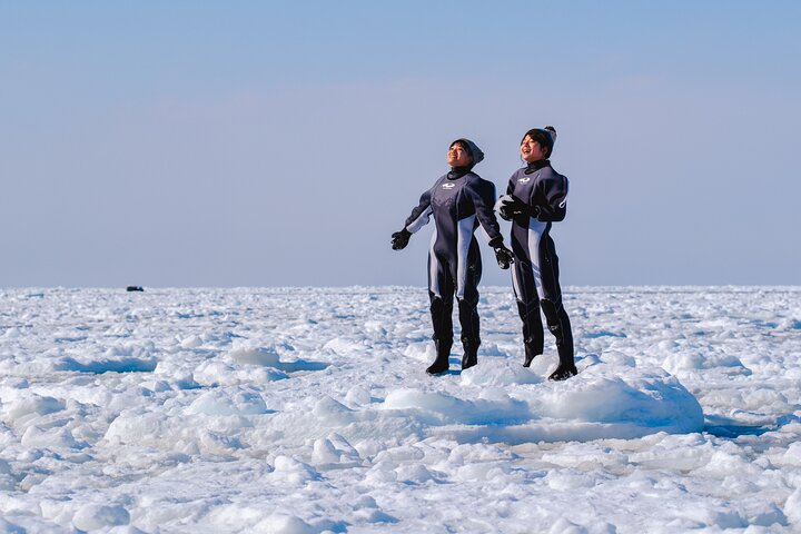
[[[795,1],[0,1],[0,287],[424,286],[431,228],[389,234],[449,142],[501,191],[544,125],[563,284],[801,284],[799,28]]]

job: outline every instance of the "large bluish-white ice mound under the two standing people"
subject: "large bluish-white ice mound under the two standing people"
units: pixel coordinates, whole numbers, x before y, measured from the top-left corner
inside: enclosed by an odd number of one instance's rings
[[[629,439],[703,429],[701,405],[675,377],[659,367],[637,367],[626,355],[612,353],[605,359],[586,358],[581,379],[563,383],[485,359],[462,374],[462,389],[399,388],[386,396],[382,409],[414,417],[429,434],[462,443]],[[547,363],[538,365],[546,368]]]

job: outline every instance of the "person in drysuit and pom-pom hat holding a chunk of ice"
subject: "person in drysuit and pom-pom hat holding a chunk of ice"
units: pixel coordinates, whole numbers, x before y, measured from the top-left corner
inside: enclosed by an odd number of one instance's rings
[[[498,199],[501,217],[512,221],[512,251],[515,256],[512,283],[517,312],[523,320],[523,343],[528,367],[543,353],[540,309],[556,338],[558,367],[548,379],[564,380],[577,370],[573,359],[573,333],[562,303],[558,257],[551,238],[551,225],[567,212],[567,178],[551,167],[556,140],[552,126],[528,130],[521,141],[521,157],[527,164],[510,178],[506,195]]]

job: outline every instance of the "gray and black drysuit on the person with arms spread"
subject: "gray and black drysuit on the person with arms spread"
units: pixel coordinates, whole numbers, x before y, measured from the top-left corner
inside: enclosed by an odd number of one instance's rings
[[[465,168],[454,168],[421,196],[419,205],[406,219],[405,228],[416,233],[434,217],[434,235],[428,250],[428,297],[434,340],[453,343],[453,296],[458,300],[462,343],[474,349],[478,335],[478,281],[481,254],[473,233],[481,226],[490,245],[503,237],[493,212],[495,186]]]

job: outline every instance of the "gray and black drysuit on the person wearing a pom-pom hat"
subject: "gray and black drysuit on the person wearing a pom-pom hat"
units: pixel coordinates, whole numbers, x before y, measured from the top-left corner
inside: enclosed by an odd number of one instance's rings
[[[506,194],[532,206],[536,214],[517,216],[512,222],[515,255],[512,281],[523,320],[526,355],[533,357],[543,352],[542,306],[548,329],[556,338],[560,362],[573,365],[573,333],[562,305],[558,257],[551,239],[552,222],[563,220],[567,212],[567,178],[556,172],[548,160],[541,160],[515,171]]]

